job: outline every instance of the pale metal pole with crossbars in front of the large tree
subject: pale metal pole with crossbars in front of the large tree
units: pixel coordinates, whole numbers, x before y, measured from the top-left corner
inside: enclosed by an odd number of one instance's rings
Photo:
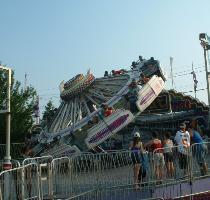
[[[6,155],[4,157],[4,170],[12,168],[11,156],[10,156],[10,124],[11,124],[11,113],[10,113],[10,96],[11,96],[11,74],[12,70],[8,67],[0,65],[0,69],[7,72],[7,108],[0,113],[6,113]]]

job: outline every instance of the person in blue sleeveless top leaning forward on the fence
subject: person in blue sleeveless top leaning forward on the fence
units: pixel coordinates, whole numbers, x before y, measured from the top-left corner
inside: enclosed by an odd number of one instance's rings
[[[206,144],[204,143],[201,135],[198,131],[194,130],[193,127],[190,125],[188,128],[188,131],[190,133],[190,138],[192,143],[192,152],[196,157],[197,163],[200,166],[201,175],[204,176],[207,174],[207,163],[206,163],[206,156],[208,153],[208,148]]]

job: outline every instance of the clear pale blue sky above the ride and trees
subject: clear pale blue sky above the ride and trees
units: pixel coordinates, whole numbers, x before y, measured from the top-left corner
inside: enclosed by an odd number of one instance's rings
[[[100,77],[139,55],[154,56],[168,74],[172,56],[174,75],[193,62],[198,89],[206,88],[199,33],[210,35],[209,0],[0,0],[0,7],[0,60],[22,83],[27,73],[42,109],[58,102],[62,80],[88,68]],[[192,75],[174,81],[178,91],[193,90]],[[207,102],[206,91],[197,96]]]

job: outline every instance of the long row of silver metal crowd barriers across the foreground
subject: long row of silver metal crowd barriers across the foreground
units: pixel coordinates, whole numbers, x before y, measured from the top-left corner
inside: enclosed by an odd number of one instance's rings
[[[207,168],[210,166],[210,143],[199,145],[193,144],[186,150],[184,168],[181,167],[179,147],[173,147],[172,173],[169,173],[165,161],[159,168],[156,166],[155,159],[160,158],[157,155],[164,149],[144,152],[140,162],[144,162],[146,175],[141,171],[139,183],[134,182],[134,165],[138,158],[131,151],[86,153],[70,158],[27,158],[22,167],[0,174],[0,199],[12,199],[13,196],[8,196],[9,190],[16,191],[14,199],[101,200],[115,200],[119,196],[122,200],[131,199],[129,196],[133,199],[171,198],[204,192],[208,188],[202,184],[210,185]],[[158,174],[160,170],[161,175]],[[15,195],[15,192],[10,195]]]

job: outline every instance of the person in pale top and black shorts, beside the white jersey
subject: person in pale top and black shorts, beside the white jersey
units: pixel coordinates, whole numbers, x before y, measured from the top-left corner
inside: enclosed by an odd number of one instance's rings
[[[170,139],[171,134],[170,132],[166,132],[164,135],[164,141],[163,141],[163,153],[164,153],[164,159],[166,163],[166,169],[167,169],[167,176],[173,177],[174,175],[174,163],[173,163],[173,141]]]

